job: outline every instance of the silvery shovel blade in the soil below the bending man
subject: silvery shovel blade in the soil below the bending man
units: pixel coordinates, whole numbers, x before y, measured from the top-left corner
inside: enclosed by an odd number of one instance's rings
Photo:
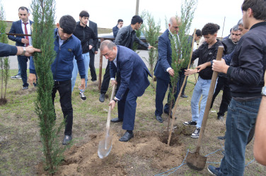
[[[105,137],[104,140],[99,142],[98,146],[98,156],[103,159],[109,155],[112,149],[112,137]]]

